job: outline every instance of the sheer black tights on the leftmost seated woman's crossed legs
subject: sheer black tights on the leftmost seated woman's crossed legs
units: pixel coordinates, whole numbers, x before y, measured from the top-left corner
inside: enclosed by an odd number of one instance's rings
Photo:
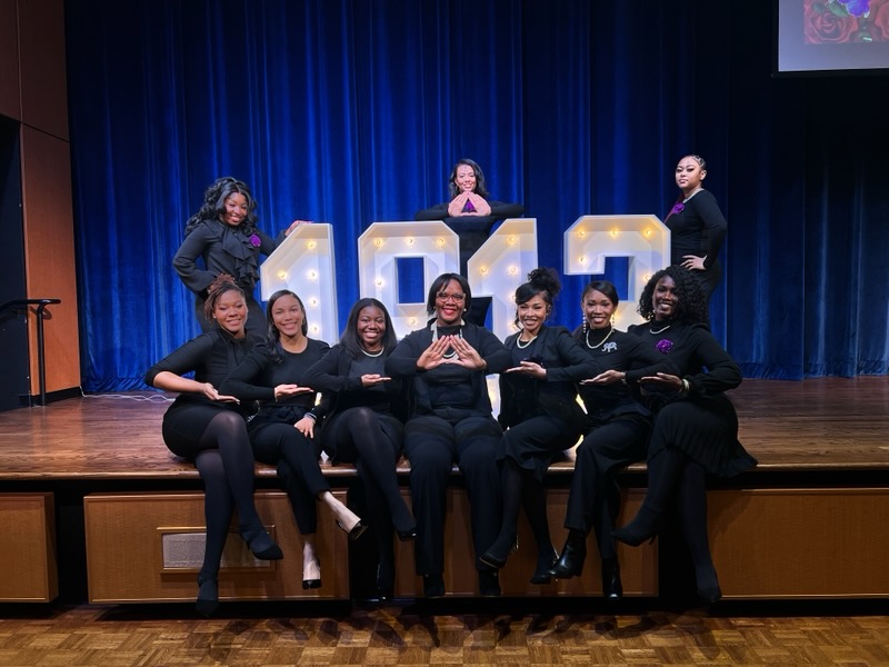
[[[204,485],[207,546],[201,574],[216,575],[228,538],[232,511],[241,531],[262,521],[253,505],[253,452],[243,418],[233,411],[216,415],[198,441],[194,465]]]

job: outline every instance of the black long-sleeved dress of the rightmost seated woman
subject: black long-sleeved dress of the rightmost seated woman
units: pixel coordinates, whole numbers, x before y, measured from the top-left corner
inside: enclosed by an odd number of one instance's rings
[[[629,331],[667,355],[690,385],[689,392],[646,394],[657,414],[648,458],[675,447],[719,477],[733,477],[756,466],[756,459],[738,441],[738,415],[723,394],[741,384],[740,368],[708,328],[652,320]],[[641,372],[627,375],[638,380]]]

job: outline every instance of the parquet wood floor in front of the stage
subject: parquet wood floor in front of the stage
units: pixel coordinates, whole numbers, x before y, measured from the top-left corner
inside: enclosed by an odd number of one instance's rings
[[[198,620],[183,607],[140,609],[0,618],[0,665],[889,665],[889,617],[877,615],[427,616],[393,606]]]

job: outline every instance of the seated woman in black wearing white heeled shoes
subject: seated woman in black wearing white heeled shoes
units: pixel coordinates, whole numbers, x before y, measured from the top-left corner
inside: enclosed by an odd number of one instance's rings
[[[324,410],[316,406],[318,394],[304,378],[309,367],[330,348],[324,341],[306,336],[306,308],[290,290],[271,296],[266,320],[268,345],[253,348],[229,374],[222,388],[241,401],[261,401],[248,429],[253,455],[263,464],[278,466],[302,535],[302,588],[320,588],[321,566],[314,547],[316,499],[333,511],[337,525],[350,538],[358,539],[366,529],[361,519],[330,492],[318,465],[321,449],[313,437],[314,424]]]

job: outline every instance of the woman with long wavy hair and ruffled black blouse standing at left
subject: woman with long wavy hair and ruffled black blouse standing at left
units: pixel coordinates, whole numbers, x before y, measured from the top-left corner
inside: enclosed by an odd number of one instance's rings
[[[173,257],[173,268],[182,282],[194,292],[194,312],[202,331],[212,328],[203,317],[207,289],[220,273],[234,277],[244,291],[250,311],[248,331],[264,335],[263,312],[253,298],[259,281],[259,256],[271,255],[297,220],[277,240],[257,228],[257,202],[243,181],[230,176],[217,179],[203,193],[203,205],[186,223],[186,240]],[[203,267],[198,265],[201,259]]]

